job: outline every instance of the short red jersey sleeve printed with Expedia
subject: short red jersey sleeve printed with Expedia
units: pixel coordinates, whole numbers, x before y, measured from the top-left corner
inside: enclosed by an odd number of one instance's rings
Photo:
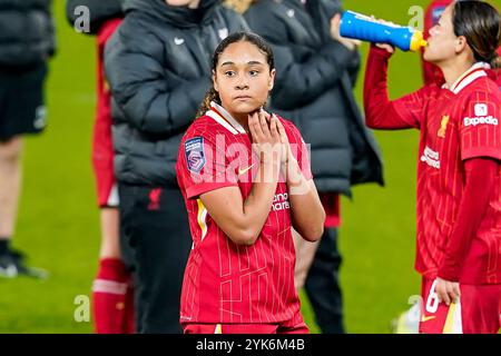
[[[461,159],[490,157],[501,160],[501,96],[475,91],[464,106],[460,122]]]

